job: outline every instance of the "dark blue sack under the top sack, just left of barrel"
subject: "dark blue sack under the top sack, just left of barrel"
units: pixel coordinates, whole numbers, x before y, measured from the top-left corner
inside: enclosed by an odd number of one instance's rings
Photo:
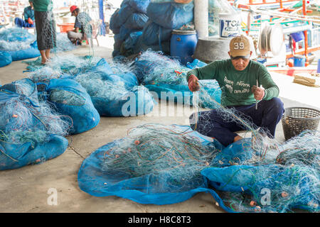
[[[142,42],[144,45],[159,45],[171,39],[171,28],[164,28],[149,19],[142,31]]]

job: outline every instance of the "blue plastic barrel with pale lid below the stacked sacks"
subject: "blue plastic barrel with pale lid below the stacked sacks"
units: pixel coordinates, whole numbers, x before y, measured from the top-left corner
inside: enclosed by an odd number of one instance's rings
[[[171,35],[170,55],[179,57],[183,65],[193,62],[193,53],[196,50],[197,37],[195,30],[174,30]]]

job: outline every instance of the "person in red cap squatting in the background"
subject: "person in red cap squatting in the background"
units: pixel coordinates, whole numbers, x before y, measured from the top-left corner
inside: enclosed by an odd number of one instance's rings
[[[87,13],[80,12],[80,9],[77,6],[71,6],[70,12],[71,16],[75,16],[75,29],[73,31],[68,31],[68,38],[73,44],[79,45],[82,40],[91,38],[91,18]]]

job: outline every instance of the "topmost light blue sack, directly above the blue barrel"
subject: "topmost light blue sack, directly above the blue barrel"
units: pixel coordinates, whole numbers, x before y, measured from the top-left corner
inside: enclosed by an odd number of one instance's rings
[[[146,15],[161,27],[176,29],[193,21],[193,1],[189,4],[150,2]]]

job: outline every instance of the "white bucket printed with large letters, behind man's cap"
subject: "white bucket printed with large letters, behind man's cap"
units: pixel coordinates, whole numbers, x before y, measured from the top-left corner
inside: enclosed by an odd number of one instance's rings
[[[230,38],[239,35],[240,20],[238,14],[219,13],[219,35]]]

